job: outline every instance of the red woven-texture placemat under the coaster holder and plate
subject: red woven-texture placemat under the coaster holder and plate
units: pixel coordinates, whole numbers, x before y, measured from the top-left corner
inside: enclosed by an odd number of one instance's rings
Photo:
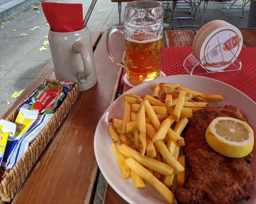
[[[183,62],[191,52],[192,47],[163,47],[161,70],[166,76],[188,74]],[[200,74],[200,76],[229,84],[256,101],[256,47],[243,47],[238,59],[242,63],[242,69],[239,71]],[[123,79],[122,83],[124,83]],[[126,91],[130,88],[127,86]]]

